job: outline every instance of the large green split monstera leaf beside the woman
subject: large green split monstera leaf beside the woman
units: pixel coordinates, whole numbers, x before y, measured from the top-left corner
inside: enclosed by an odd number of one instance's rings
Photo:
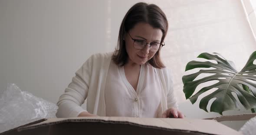
[[[249,80],[256,81],[256,65],[253,64],[253,61],[256,59],[256,51],[253,52],[246,65],[240,72],[236,71],[236,69],[232,66],[232,61],[226,61],[222,56],[222,58],[219,56],[221,55],[218,53],[202,53],[198,56],[198,58],[217,61],[217,64],[210,61],[190,61],[187,64],[185,71],[201,67],[213,67],[215,69],[200,70],[197,73],[182,77],[184,84],[183,92],[185,93],[186,99],[189,99],[190,102],[194,104],[200,94],[212,88],[217,88],[217,90],[215,90],[213,93],[210,93],[201,99],[199,104],[200,109],[208,112],[207,104],[209,100],[217,98],[211,104],[210,112],[216,112],[222,115],[222,112],[226,110],[240,110],[239,101],[236,100],[232,93],[237,95],[238,99],[246,109],[255,108],[256,84]],[[214,75],[204,77],[199,80],[194,80],[199,74],[202,73],[212,73]],[[207,87],[203,87],[193,95],[199,84],[211,80],[218,80],[219,82]],[[245,88],[247,88],[249,92],[247,92]]]

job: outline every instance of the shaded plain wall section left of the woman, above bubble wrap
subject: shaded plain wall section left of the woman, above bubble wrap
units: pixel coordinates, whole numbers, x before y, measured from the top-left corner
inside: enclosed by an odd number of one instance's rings
[[[56,103],[75,71],[105,45],[105,0],[1,0],[0,89]]]

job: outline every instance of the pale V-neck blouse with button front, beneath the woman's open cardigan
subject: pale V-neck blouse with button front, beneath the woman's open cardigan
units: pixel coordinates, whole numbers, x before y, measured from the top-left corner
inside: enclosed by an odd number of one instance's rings
[[[150,64],[141,65],[135,91],[125,77],[124,67],[111,61],[105,84],[106,116],[156,118],[161,89],[159,77]]]

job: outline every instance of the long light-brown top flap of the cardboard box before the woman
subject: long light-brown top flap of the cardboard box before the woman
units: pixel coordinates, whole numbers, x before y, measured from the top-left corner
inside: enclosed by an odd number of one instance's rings
[[[202,132],[213,135],[241,135],[234,129],[222,125],[214,120],[206,119],[172,119],[172,118],[132,118],[132,117],[75,117],[51,118],[46,121],[20,127],[18,130],[34,129],[40,126],[55,125],[63,122],[102,122],[121,123],[149,128],[174,129],[191,132]],[[217,129],[217,130],[216,130]]]

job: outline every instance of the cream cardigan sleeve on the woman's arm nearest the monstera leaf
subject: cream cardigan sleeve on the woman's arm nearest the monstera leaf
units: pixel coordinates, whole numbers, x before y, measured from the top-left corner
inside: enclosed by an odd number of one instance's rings
[[[171,77],[171,71],[166,70],[166,87],[167,87],[167,108],[175,107],[178,108],[176,96],[174,95],[173,81]]]

